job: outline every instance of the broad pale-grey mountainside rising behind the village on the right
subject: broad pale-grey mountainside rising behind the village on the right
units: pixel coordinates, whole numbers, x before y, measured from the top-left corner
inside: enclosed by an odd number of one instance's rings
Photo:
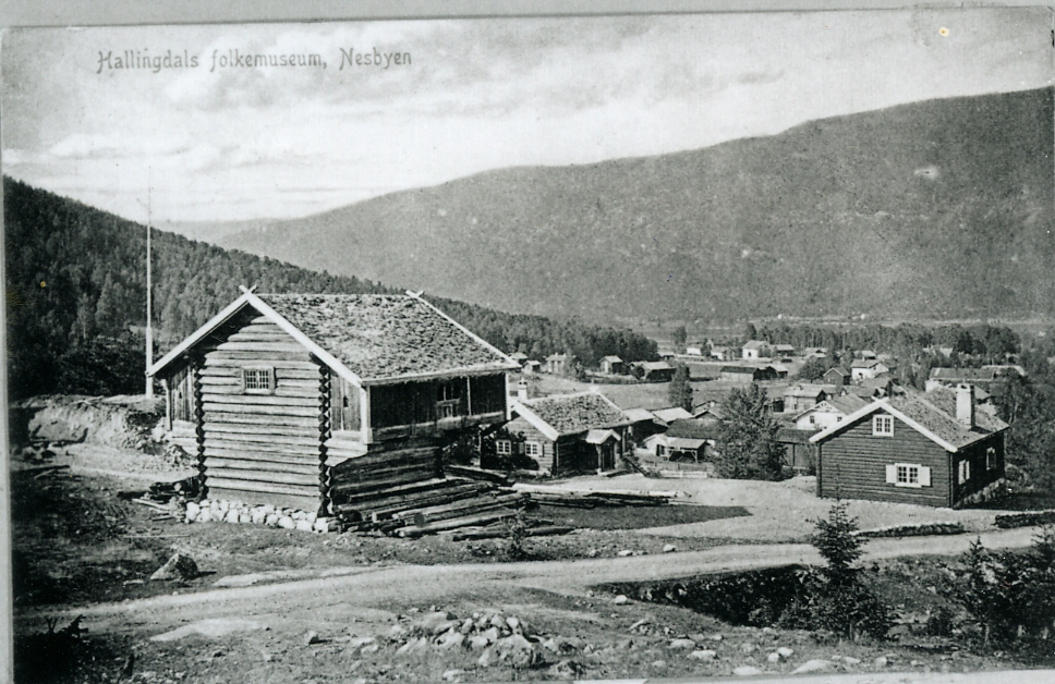
[[[595,321],[1051,314],[1052,96],[913,102],[658,157],[501,169],[219,244]]]

